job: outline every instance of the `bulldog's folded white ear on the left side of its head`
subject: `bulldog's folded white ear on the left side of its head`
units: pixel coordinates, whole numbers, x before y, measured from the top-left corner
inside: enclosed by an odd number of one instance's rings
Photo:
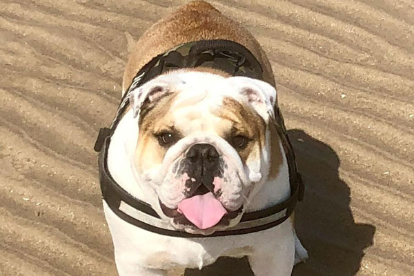
[[[151,106],[159,99],[177,91],[179,83],[183,83],[183,81],[177,75],[161,75],[128,92],[127,97],[130,100],[134,118],[139,115],[142,108]]]

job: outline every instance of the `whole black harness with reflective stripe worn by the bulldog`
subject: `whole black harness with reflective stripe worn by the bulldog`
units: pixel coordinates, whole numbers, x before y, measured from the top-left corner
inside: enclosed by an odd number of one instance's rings
[[[234,41],[208,40],[185,43],[168,52],[158,55],[147,63],[134,77],[117,110],[117,115],[110,128],[101,128],[95,143],[95,151],[99,153],[99,180],[103,200],[112,212],[128,223],[153,233],[172,237],[218,237],[242,235],[272,228],[288,219],[293,213],[297,201],[304,197],[304,184],[297,171],[295,154],[290,144],[282,114],[275,104],[274,124],[282,141],[288,161],[290,197],[276,206],[244,213],[241,221],[233,228],[217,231],[211,235],[199,235],[175,230],[162,221],[161,217],[146,202],[130,195],[119,186],[108,170],[108,148],[110,139],[122,115],[129,105],[128,94],[135,88],[169,70],[179,68],[196,68],[199,66],[216,68],[233,76],[244,76],[262,79],[262,66],[253,54],[244,46]]]

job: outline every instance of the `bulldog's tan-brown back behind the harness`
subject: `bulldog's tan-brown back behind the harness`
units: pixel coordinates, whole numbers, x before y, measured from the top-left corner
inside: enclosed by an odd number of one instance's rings
[[[213,39],[235,41],[248,48],[263,66],[264,81],[275,86],[268,58],[253,35],[210,4],[193,1],[155,23],[139,38],[126,65],[123,93],[152,58],[183,43]]]

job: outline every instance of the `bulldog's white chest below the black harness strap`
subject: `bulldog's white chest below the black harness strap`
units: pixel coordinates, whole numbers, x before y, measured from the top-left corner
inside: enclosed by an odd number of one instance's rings
[[[288,246],[294,239],[290,220],[247,235],[181,238],[151,233],[128,224],[117,217],[104,201],[103,210],[114,242],[117,267],[121,270],[134,270],[134,267],[201,269],[221,256],[293,255],[294,248]]]

